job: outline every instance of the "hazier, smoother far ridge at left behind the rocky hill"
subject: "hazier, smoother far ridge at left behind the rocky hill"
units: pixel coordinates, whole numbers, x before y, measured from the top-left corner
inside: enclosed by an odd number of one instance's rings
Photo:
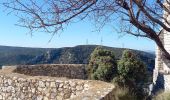
[[[0,65],[25,64],[50,49],[0,46]]]

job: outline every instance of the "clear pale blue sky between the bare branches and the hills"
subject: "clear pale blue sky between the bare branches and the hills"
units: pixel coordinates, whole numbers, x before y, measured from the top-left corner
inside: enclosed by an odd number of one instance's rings
[[[53,37],[48,41],[51,35],[43,32],[35,32],[31,37],[27,34],[29,30],[15,26],[17,17],[13,14],[7,15],[0,7],[0,45],[21,46],[21,47],[42,47],[42,48],[59,48],[72,47],[76,45],[101,44],[110,47],[126,47],[138,50],[154,51],[155,44],[146,38],[136,38],[126,35],[120,38],[120,34],[112,30],[111,27],[105,27],[101,32],[95,31],[95,27],[87,20],[71,24],[64,32]]]

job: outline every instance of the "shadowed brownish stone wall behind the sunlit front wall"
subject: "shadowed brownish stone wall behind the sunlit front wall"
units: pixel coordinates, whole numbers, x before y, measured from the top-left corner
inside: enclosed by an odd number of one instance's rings
[[[83,64],[43,64],[19,65],[14,72],[31,76],[67,77],[71,79],[86,79]]]

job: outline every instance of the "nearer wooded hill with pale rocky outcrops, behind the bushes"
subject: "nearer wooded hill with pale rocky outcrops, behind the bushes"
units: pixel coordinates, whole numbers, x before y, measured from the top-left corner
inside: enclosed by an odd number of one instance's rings
[[[90,54],[96,47],[97,45],[80,45],[76,47],[53,49],[47,51],[44,54],[36,56],[35,58],[28,61],[27,64],[87,64]],[[117,60],[121,58],[122,52],[125,50],[125,48],[113,48],[106,46],[103,46],[103,48],[113,50]],[[137,50],[132,51],[135,52],[140,57],[140,59],[145,62],[149,70],[153,69],[155,58],[154,54]]]

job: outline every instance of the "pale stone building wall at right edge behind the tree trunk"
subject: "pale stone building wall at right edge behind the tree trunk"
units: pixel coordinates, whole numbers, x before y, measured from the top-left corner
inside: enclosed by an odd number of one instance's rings
[[[169,4],[165,1],[164,5],[169,8]],[[170,21],[170,14],[166,11],[163,12],[163,17]],[[167,25],[165,21],[163,21]],[[169,26],[169,25],[167,25]],[[167,52],[170,53],[170,32],[163,30],[160,34],[160,40],[164,45]],[[159,76],[161,75],[161,77]],[[159,79],[160,78],[160,79]],[[160,87],[163,84],[165,91],[170,91],[170,61],[162,57],[160,49],[156,48],[155,69],[153,74],[153,83],[155,87]],[[158,83],[156,83],[158,82]]]

